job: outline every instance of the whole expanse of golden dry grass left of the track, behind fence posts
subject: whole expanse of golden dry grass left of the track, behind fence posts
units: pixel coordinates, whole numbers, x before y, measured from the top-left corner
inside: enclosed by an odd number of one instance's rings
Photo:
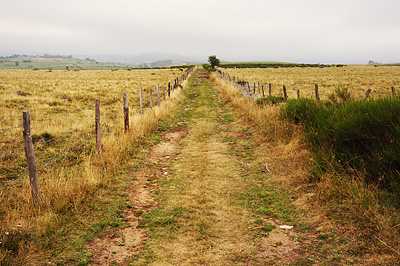
[[[128,163],[127,158],[140,153],[143,137],[176,108],[179,89],[171,93],[171,98],[167,96],[167,101],[162,100],[160,107],[155,106],[156,84],[162,92],[168,82],[183,74],[179,69],[0,70],[0,242],[12,243],[6,250],[13,251],[10,256],[15,258],[8,261],[8,254],[2,253],[0,262],[19,264],[18,250],[25,249],[27,239],[35,242],[33,238],[60,228],[65,220],[89,223],[87,219],[95,219],[85,211],[93,204],[92,199],[105,202],[110,187],[120,184],[121,171],[133,167],[134,160]],[[144,115],[139,114],[139,87],[143,88]],[[150,88],[153,89],[153,110],[148,108]],[[130,106],[129,134],[123,133],[122,94],[125,92]],[[96,98],[102,104],[101,156],[96,153],[93,139]],[[32,204],[20,127],[24,110],[31,112],[31,133],[39,169],[41,201],[36,206]],[[118,188],[112,190],[118,191]],[[47,241],[46,237],[38,239]],[[39,246],[38,249],[43,249]],[[38,252],[35,248],[30,250]]]

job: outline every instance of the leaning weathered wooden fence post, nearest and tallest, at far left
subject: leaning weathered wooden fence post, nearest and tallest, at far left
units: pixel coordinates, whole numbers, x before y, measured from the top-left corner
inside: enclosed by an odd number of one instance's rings
[[[33,152],[30,111],[24,111],[22,113],[22,118],[23,118],[23,128],[24,128],[23,137],[24,137],[26,163],[28,165],[28,172],[29,172],[29,182],[31,185],[33,203],[36,204],[40,200],[40,191],[39,191],[39,181],[37,177],[35,154]]]

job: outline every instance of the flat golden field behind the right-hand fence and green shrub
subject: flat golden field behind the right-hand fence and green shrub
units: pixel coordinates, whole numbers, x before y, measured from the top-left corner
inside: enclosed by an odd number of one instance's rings
[[[296,98],[297,90],[301,97],[315,97],[315,84],[318,84],[321,99],[328,99],[338,87],[348,88],[355,98],[362,98],[368,89],[371,97],[391,95],[391,87],[400,90],[400,67],[398,66],[359,66],[344,67],[295,67],[295,68],[227,68],[221,69],[226,75],[235,76],[249,83],[263,84],[268,95],[268,84],[272,84],[272,95],[283,95],[286,86],[288,98]]]

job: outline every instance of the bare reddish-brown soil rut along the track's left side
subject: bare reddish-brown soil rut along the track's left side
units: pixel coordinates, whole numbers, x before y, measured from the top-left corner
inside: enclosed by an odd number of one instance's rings
[[[148,210],[157,207],[154,191],[159,187],[152,180],[165,178],[171,162],[179,152],[179,139],[187,134],[185,127],[175,127],[162,136],[162,141],[151,148],[145,163],[136,172],[132,186],[127,190],[127,200],[131,208],[124,209],[124,225],[117,232],[96,237],[88,246],[94,256],[91,265],[126,265],[126,262],[143,249],[148,240],[148,229],[140,228],[140,217]],[[162,165],[162,167],[160,167]]]

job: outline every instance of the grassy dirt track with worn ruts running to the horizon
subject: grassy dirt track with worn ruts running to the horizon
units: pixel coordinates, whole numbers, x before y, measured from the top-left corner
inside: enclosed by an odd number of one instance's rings
[[[292,206],[253,162],[249,128],[206,73],[194,73],[185,93],[132,173],[123,226],[90,245],[91,265],[318,265],[317,235],[291,225]]]

